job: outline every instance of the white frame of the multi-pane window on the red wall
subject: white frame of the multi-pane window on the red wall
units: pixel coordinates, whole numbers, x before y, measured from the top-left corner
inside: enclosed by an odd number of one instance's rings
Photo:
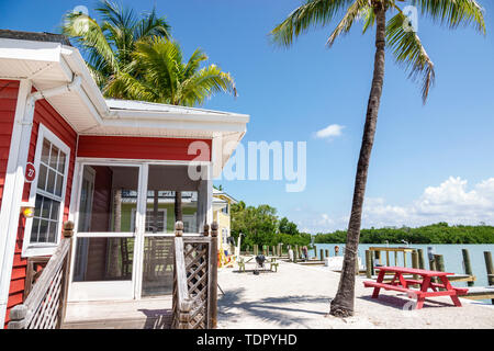
[[[67,191],[67,180],[68,180],[68,168],[70,163],[70,147],[67,146],[64,141],[60,140],[58,136],[56,136],[52,131],[49,131],[45,125],[40,123],[40,127],[37,131],[37,140],[36,140],[36,151],[34,154],[34,168],[36,169],[36,177],[31,183],[30,190],[30,206],[35,206],[36,194],[37,194],[37,177],[40,174],[40,162],[42,158],[43,151],[43,140],[47,139],[52,145],[56,146],[60,151],[66,155],[65,170],[64,170],[64,183],[61,185],[61,202],[60,207],[58,208],[58,233],[56,235],[56,242],[46,242],[46,244],[31,244],[31,230],[33,227],[33,218],[26,218],[25,227],[24,227],[24,240],[22,244],[22,257],[33,257],[33,256],[48,256],[53,254],[60,242],[61,236],[61,226],[64,222],[64,212],[65,212],[65,197]]]

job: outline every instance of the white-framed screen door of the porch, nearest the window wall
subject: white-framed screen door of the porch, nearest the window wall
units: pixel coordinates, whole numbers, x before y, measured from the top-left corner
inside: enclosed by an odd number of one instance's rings
[[[134,298],[139,173],[139,166],[82,167],[70,301]]]

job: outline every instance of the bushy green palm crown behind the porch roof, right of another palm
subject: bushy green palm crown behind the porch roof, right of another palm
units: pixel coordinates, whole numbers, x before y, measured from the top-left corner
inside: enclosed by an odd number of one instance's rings
[[[201,105],[218,92],[236,95],[228,72],[216,65],[201,68],[207,55],[199,48],[184,63],[177,42],[155,37],[136,43],[132,57],[132,64],[109,82],[108,95],[183,106]]]

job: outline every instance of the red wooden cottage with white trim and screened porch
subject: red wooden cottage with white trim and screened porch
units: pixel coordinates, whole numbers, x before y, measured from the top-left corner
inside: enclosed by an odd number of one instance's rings
[[[68,219],[69,301],[169,294],[153,262],[170,254],[177,206],[184,231],[212,222],[211,176],[248,120],[104,99],[64,36],[0,31],[0,321],[23,302],[29,259],[53,254]]]

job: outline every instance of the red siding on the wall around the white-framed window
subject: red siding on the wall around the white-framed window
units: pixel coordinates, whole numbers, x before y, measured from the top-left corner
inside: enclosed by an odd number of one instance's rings
[[[69,206],[70,206],[70,192],[72,189],[74,167],[76,160],[76,144],[77,134],[70,127],[70,125],[52,107],[52,105],[45,101],[40,100],[36,102],[34,110],[34,124],[31,134],[30,152],[27,157],[29,162],[34,162],[34,154],[36,151],[37,133],[40,123],[50,129],[61,141],[64,141],[70,148],[70,162],[68,167],[67,189],[65,193],[65,207],[64,207],[64,220],[68,219]],[[31,184],[24,185],[24,192],[22,200],[27,201],[30,197]],[[7,318],[5,325],[9,321],[10,309],[22,303],[24,286],[25,286],[25,271],[27,260],[21,257],[22,244],[24,238],[24,218],[19,218],[18,237],[15,241],[14,261],[12,265],[12,278],[10,283],[9,302],[7,305]],[[60,228],[61,233],[61,228]]]

